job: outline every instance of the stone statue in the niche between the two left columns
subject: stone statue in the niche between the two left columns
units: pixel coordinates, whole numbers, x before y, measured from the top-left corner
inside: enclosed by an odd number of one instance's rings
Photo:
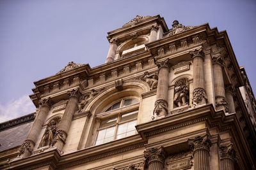
[[[53,138],[56,134],[56,129],[56,120],[51,120],[44,132],[43,138],[39,144],[39,148],[42,146],[51,146]]]

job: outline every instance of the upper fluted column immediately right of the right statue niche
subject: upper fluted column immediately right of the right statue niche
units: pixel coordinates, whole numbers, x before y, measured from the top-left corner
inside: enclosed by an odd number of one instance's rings
[[[202,48],[190,52],[193,59],[193,106],[207,103],[204,85],[204,52]]]

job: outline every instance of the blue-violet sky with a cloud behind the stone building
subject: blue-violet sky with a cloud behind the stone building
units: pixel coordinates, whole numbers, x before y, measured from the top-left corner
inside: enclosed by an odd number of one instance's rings
[[[0,122],[35,111],[33,81],[68,62],[104,64],[107,32],[136,15],[227,30],[240,66],[256,92],[256,1],[0,1]]]

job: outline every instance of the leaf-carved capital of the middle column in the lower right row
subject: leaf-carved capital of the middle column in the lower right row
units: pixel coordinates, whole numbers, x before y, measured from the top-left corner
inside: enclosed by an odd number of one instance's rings
[[[209,152],[210,147],[212,146],[209,134],[205,134],[203,137],[196,136],[195,139],[189,139],[188,144],[193,152],[200,149],[207,150]]]

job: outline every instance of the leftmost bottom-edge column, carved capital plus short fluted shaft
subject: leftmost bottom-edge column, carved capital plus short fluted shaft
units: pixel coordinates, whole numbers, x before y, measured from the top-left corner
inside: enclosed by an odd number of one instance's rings
[[[150,150],[145,151],[144,157],[146,159],[148,170],[163,169],[164,159],[166,157],[163,146],[159,146],[158,148],[151,148]]]

